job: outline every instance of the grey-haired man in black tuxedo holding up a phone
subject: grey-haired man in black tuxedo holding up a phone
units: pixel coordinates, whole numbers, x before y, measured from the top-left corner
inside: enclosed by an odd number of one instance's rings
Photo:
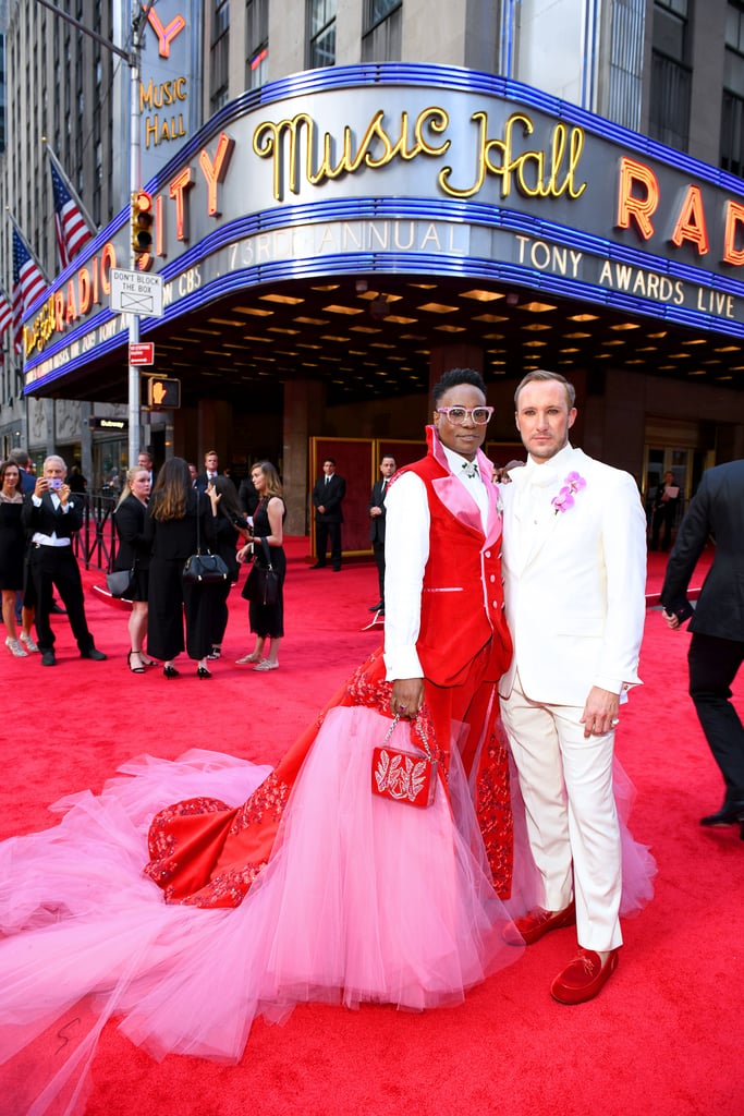
[[[93,642],[85,616],[83,581],[73,554],[73,535],[83,526],[83,498],[66,483],[67,465],[52,455],[33,492],[26,497],[22,522],[30,536],[30,574],[36,597],[36,631],[42,666],[56,666],[55,634],[49,623],[52,587],[57,588],[69,616],[81,658],[104,660]]]

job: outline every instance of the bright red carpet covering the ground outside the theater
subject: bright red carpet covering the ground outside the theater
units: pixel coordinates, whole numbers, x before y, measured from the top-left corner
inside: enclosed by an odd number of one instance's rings
[[[199,681],[185,657],[183,676],[172,682],[156,670],[131,674],[126,615],[93,593],[88,618],[108,662],[77,657],[65,617],[55,623],[55,670],[6,653],[0,837],[54,824],[47,804],[100,788],[139,752],[213,747],[276,760],[380,641],[379,632],[360,631],[377,599],[371,562],[315,571],[302,560],[306,540],[288,549],[279,671],[235,665],[251,645],[236,594],[211,682]],[[658,594],[664,562],[649,556],[649,594]],[[84,577],[88,588],[103,581]],[[634,831],[658,860],[657,894],[625,924],[617,975],[598,1000],[567,1008],[550,999],[550,980],[573,950],[567,930],[458,1008],[418,1016],[311,1007],[297,1009],[286,1027],[260,1023],[236,1067],[175,1057],[158,1065],[108,1026],[89,1116],[742,1113],[744,843],[735,828],[698,826],[719,805],[723,785],[686,692],[688,639],[649,610],[646,684],[622,711],[618,750],[638,789]],[[744,708],[744,679],[736,694]],[[41,728],[50,721],[54,731]],[[19,1116],[8,1104],[0,1097],[2,1116]]]

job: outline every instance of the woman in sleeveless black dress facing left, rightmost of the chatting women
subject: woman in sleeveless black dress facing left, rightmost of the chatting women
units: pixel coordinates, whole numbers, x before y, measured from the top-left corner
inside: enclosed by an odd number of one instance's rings
[[[287,514],[279,473],[270,461],[260,461],[251,469],[251,480],[259,493],[259,506],[253,512],[253,535],[248,543],[238,551],[239,561],[248,557],[253,545],[253,561],[265,565],[265,551],[261,539],[269,545],[269,556],[279,579],[279,594],[273,605],[261,605],[251,600],[251,577],[249,575],[243,586],[242,596],[250,602],[249,618],[251,632],[255,635],[255,646],[248,655],[239,658],[239,663],[255,663],[257,671],[276,671],[279,666],[279,645],[284,634],[284,575],[287,557],[282,547],[283,522]],[[265,653],[267,641],[270,650]]]

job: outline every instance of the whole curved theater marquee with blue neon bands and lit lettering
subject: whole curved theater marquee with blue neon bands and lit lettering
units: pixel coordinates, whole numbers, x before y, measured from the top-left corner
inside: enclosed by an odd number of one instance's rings
[[[395,271],[744,337],[741,181],[502,78],[308,71],[225,106],[166,170],[146,184],[166,321],[283,276]],[[25,323],[27,387],[124,346],[107,276],[128,217]]]

